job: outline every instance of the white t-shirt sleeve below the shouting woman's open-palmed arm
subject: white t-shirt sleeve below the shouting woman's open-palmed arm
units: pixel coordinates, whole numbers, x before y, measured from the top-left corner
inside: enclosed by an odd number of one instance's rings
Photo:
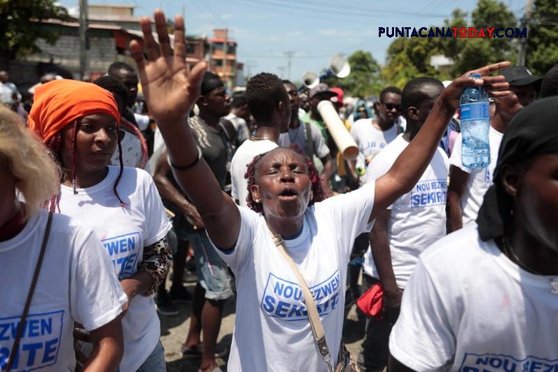
[[[258,219],[257,213],[253,210],[239,207],[239,211],[241,217],[239,238],[236,239],[236,244],[232,249],[224,251],[213,244],[213,241],[209,238],[213,248],[216,249],[219,256],[223,258],[223,261],[229,265],[229,268],[231,268],[234,274],[237,274],[241,270],[242,265],[251,254],[251,249],[254,247],[254,237]]]

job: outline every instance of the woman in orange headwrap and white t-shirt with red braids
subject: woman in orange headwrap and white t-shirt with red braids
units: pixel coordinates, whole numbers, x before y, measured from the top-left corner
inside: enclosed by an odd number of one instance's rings
[[[61,165],[59,195],[51,210],[79,219],[100,236],[124,292],[121,371],[165,371],[160,325],[150,296],[171,261],[165,240],[171,224],[151,176],[108,166],[120,146],[121,115],[108,91],[57,80],[36,88],[29,127]],[[121,151],[120,151],[121,153]]]

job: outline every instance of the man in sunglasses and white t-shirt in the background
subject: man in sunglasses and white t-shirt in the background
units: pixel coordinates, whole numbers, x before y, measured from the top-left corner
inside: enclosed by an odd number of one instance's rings
[[[363,174],[370,160],[386,144],[398,135],[395,124],[401,112],[401,91],[395,86],[388,86],[379,93],[379,101],[375,105],[377,118],[363,118],[354,122],[351,135],[359,146],[359,157],[356,160],[357,173]]]

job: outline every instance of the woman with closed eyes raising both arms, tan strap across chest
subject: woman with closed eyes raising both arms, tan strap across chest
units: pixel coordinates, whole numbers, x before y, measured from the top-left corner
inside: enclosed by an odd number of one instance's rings
[[[176,180],[195,204],[211,242],[236,275],[236,326],[229,371],[327,371],[312,337],[296,274],[280,254],[280,235],[314,297],[331,362],[340,347],[345,302],[342,284],[354,238],[370,231],[379,212],[408,192],[430,162],[466,86],[485,85],[495,96],[510,94],[504,77],[488,77],[510,65],[495,63],[467,72],[436,101],[421,131],[391,169],[359,190],[322,201],[314,166],[287,148],[257,157],[248,167],[250,207],[239,208],[221,191],[186,124],[199,96],[206,63],[190,72],[181,17],[175,19],[174,51],[165,15],[155,13],[158,40],[142,20],[148,61],[131,45],[149,110],[169,150]],[[478,73],[481,79],[469,77]],[[341,287],[341,288],[340,288]]]

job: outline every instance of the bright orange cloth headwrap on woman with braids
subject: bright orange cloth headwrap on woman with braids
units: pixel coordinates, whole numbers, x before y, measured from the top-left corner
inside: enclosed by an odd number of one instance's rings
[[[35,102],[27,124],[47,143],[54,134],[78,118],[107,114],[120,123],[120,113],[109,91],[77,80],[54,80],[35,88]]]

